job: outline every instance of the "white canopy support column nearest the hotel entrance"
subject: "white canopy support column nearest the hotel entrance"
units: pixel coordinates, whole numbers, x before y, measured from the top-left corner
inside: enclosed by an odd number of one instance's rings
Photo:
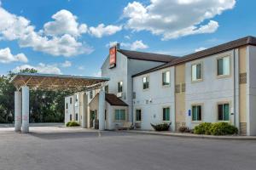
[[[99,93],[99,130],[105,130],[105,92]]]

